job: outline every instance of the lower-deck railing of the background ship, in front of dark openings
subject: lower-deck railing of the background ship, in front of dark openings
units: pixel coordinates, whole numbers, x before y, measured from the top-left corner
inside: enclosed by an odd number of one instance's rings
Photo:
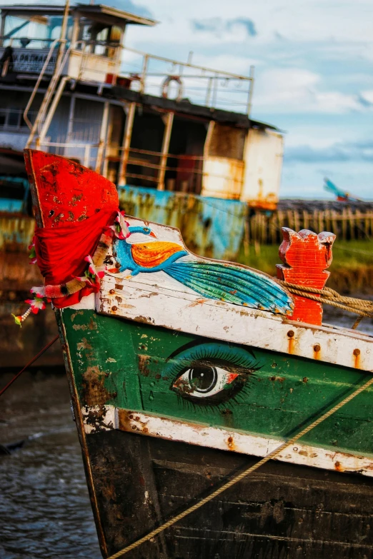
[[[158,190],[201,193],[205,179],[226,185],[229,198],[238,199],[243,186],[243,173],[237,176],[219,172],[219,166],[204,165],[204,155],[163,153],[139,148],[123,148],[106,144],[104,154],[100,155],[100,143],[79,141],[43,141],[40,149],[56,155],[72,158],[85,167],[92,168],[123,186],[154,186]],[[164,164],[164,160],[166,164]],[[244,162],[242,171],[244,170]],[[123,166],[124,164],[124,166]],[[120,169],[121,177],[120,179]],[[168,172],[169,171],[169,172]]]

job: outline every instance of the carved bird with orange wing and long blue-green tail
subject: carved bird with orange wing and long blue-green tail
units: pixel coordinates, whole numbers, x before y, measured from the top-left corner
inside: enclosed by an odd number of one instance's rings
[[[292,311],[292,298],[277,281],[244,266],[193,255],[178,243],[158,241],[149,226],[129,226],[129,236],[114,248],[119,271],[138,273],[162,271],[204,298],[259,308],[272,313]],[[145,242],[132,243],[139,233]],[[146,242],[146,237],[149,241]],[[136,236],[139,238],[139,235]]]

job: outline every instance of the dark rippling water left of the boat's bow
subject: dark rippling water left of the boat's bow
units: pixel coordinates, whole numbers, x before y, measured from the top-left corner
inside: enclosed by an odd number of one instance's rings
[[[1,378],[1,384],[6,379]],[[2,397],[1,559],[101,559],[64,376],[25,376]]]

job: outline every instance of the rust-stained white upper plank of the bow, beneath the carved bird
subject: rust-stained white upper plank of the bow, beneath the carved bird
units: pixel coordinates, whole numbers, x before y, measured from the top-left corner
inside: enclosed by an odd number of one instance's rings
[[[96,310],[173,331],[373,371],[372,336],[289,321],[246,306],[204,299],[190,290],[176,291],[176,287],[164,272],[133,278],[106,275],[96,296]]]

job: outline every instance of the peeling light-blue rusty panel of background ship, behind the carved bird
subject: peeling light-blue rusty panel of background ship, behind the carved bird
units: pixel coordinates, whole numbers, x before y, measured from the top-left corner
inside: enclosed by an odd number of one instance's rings
[[[237,257],[247,217],[245,203],[136,186],[119,187],[119,203],[130,216],[179,228],[186,246],[199,256]]]

